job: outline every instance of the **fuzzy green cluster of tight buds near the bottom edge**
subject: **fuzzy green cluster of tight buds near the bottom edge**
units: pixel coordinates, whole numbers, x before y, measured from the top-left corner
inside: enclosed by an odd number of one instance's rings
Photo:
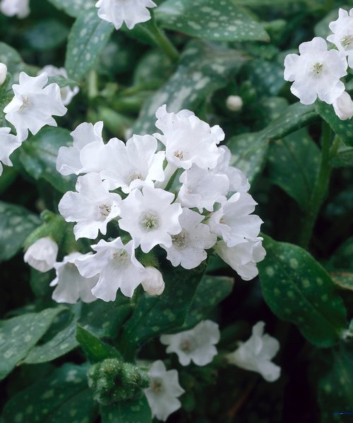
[[[94,364],[88,372],[88,386],[95,400],[102,405],[138,399],[142,389],[148,388],[148,374],[136,365],[107,358]]]

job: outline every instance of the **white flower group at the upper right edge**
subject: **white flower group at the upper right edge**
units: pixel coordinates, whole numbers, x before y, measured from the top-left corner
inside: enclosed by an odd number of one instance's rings
[[[340,8],[329,27],[333,34],[328,42],[337,49],[328,49],[321,37],[300,44],[299,55],[285,58],[285,80],[294,81],[291,91],[302,104],[321,99],[333,104],[335,114],[345,120],[353,116],[353,102],[340,78],[347,75],[347,67],[353,67],[353,8],[349,13]]]

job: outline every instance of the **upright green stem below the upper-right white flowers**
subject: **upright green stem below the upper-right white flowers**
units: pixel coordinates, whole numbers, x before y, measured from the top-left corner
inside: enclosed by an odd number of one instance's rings
[[[334,143],[335,145],[335,143]],[[333,145],[333,146],[334,146]],[[315,226],[318,212],[328,194],[328,186],[330,183],[330,175],[332,166],[330,165],[330,126],[323,122],[323,130],[321,135],[321,163],[318,170],[316,183],[311,193],[306,215],[304,216],[303,225],[299,233],[299,245],[308,248]]]

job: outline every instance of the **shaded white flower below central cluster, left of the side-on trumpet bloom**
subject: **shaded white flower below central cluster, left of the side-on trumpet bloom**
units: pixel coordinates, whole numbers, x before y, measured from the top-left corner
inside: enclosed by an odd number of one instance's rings
[[[168,345],[167,353],[176,353],[182,366],[188,366],[191,361],[197,366],[212,362],[219,341],[220,329],[211,320],[203,320],[189,331],[160,337],[160,342]]]

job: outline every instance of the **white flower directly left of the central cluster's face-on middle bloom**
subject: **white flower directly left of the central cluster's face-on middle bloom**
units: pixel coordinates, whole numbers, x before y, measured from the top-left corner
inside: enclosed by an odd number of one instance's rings
[[[107,223],[119,216],[119,194],[109,192],[98,173],[79,176],[77,192],[68,191],[59,202],[59,212],[67,222],[77,222],[73,227],[78,238],[97,238],[98,231],[107,233]]]

